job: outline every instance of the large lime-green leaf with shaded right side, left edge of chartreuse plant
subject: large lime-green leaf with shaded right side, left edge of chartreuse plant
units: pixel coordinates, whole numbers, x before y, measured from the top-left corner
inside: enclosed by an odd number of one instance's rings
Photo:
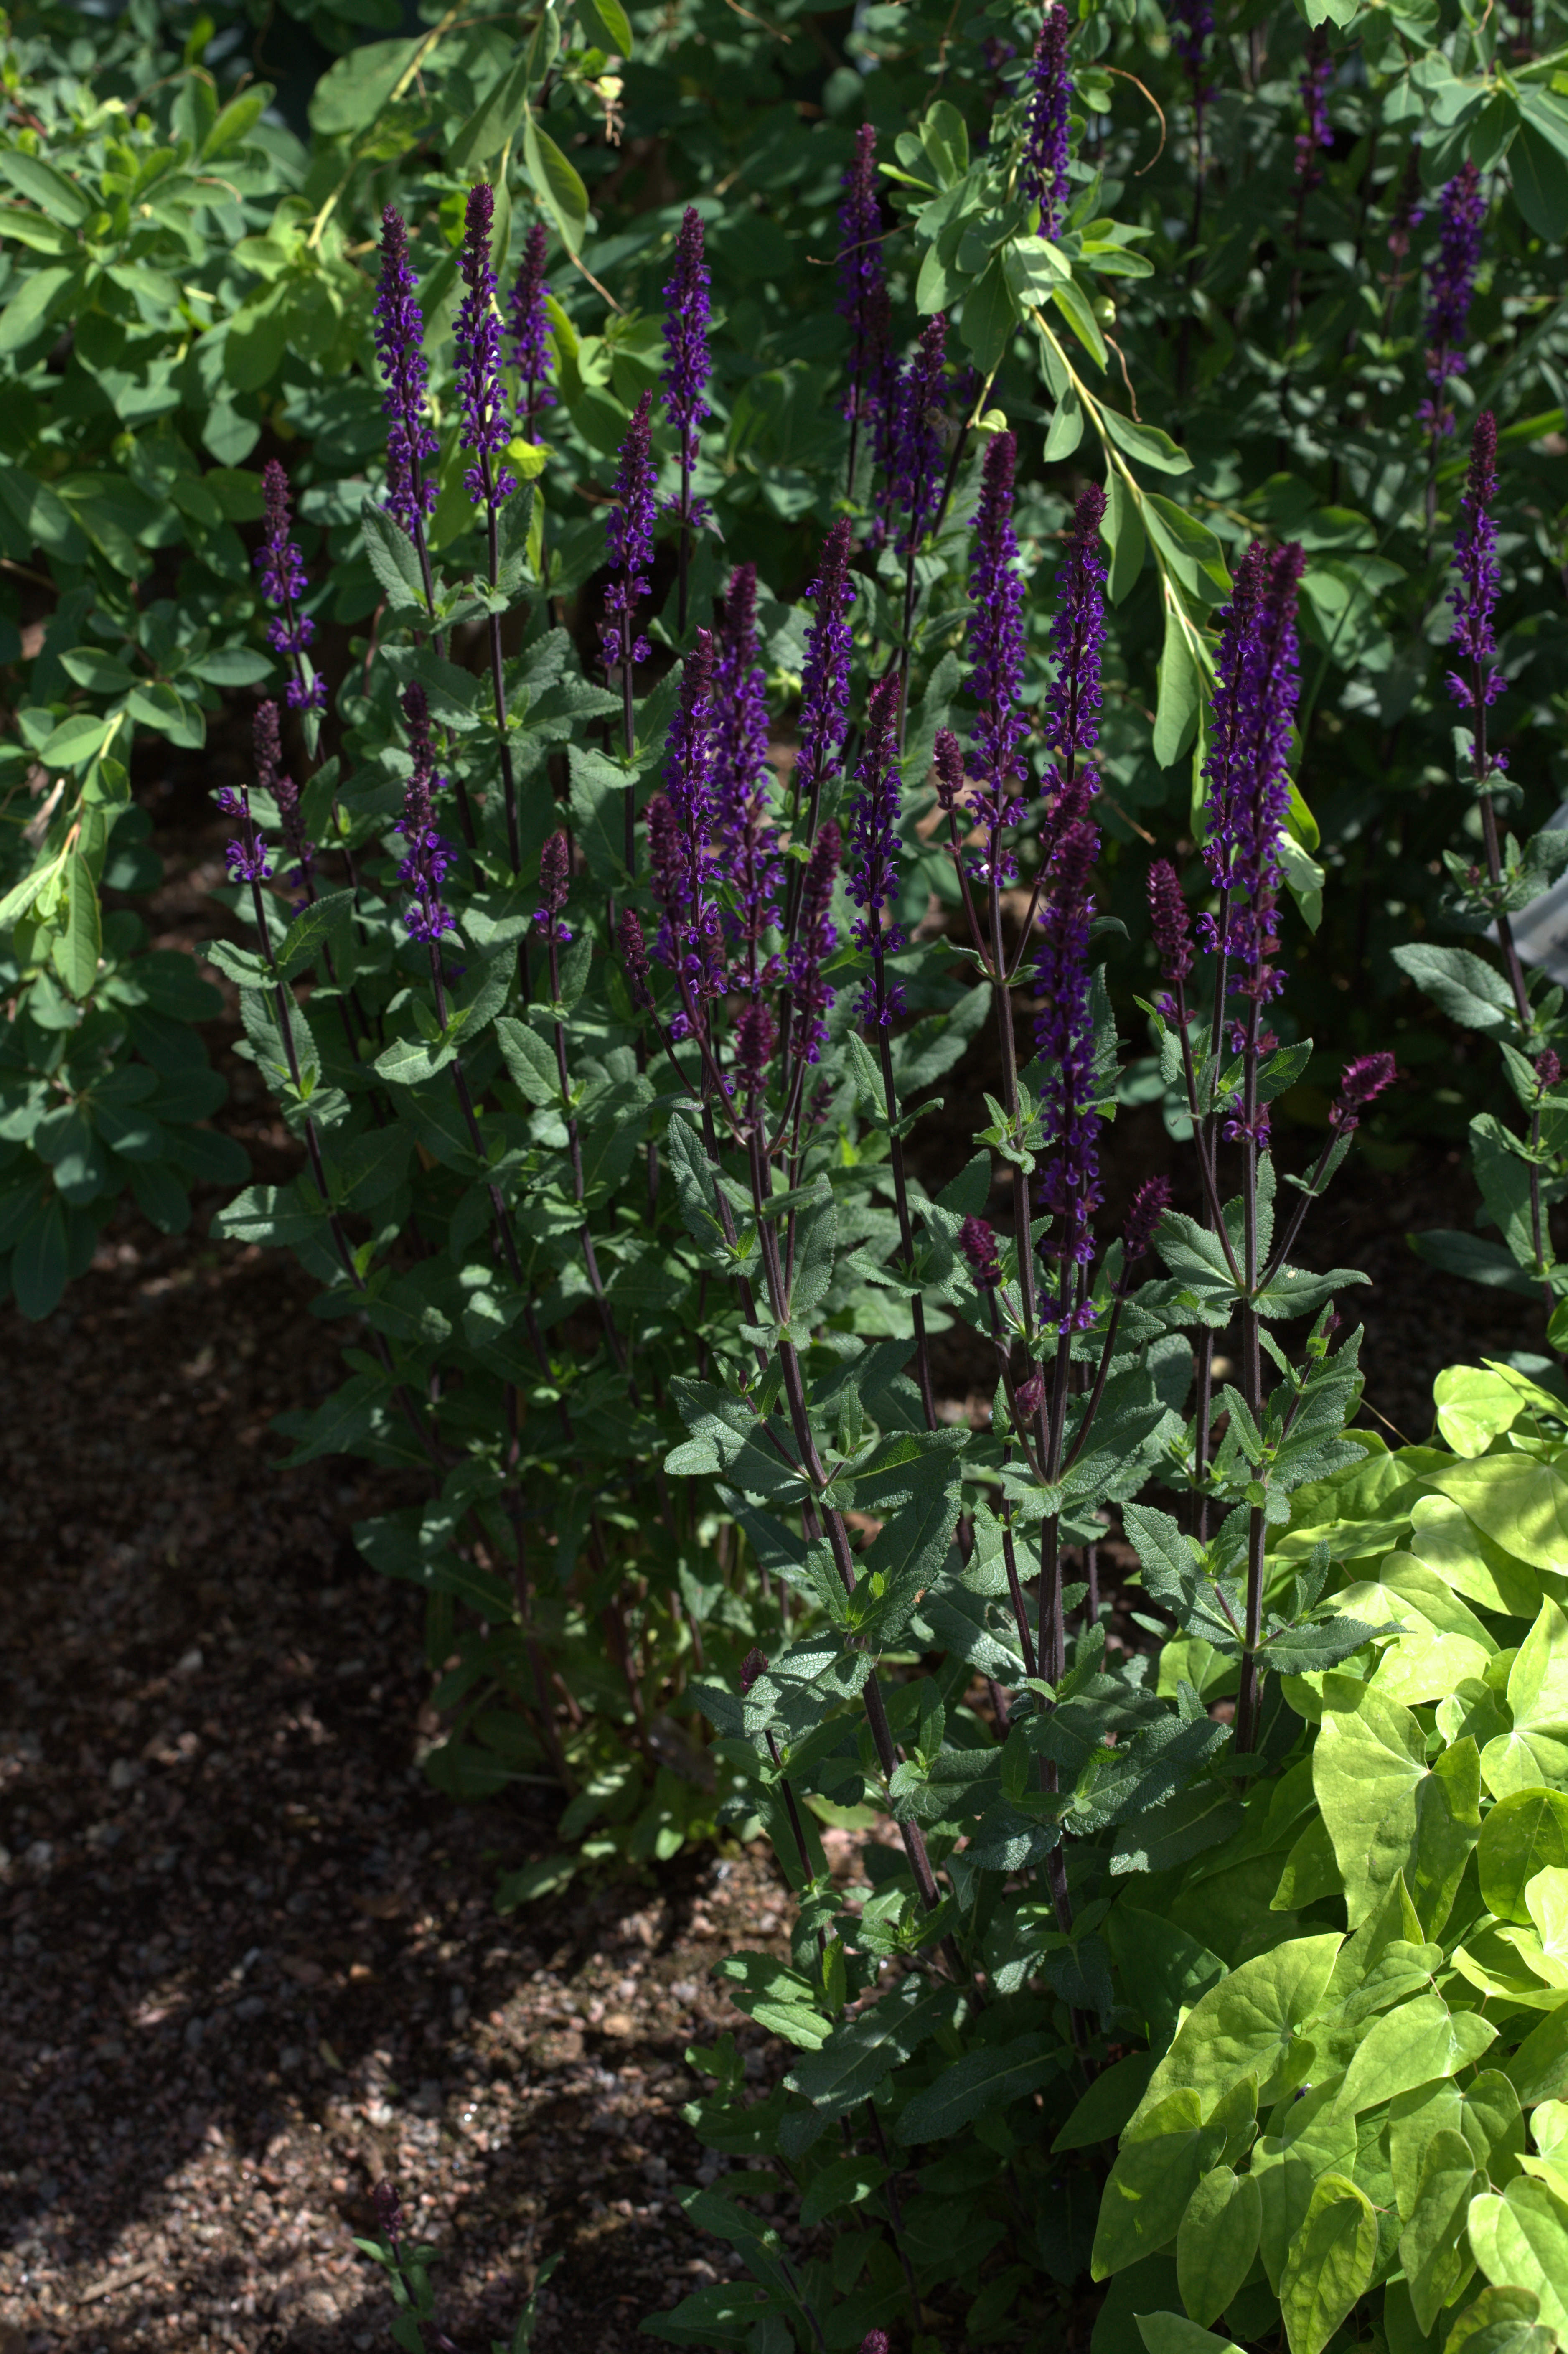
[[[1427,1735],[1410,1709],[1347,1676],[1323,1678],[1323,1728],[1311,1784],[1361,1928],[1403,1871],[1422,1926],[1448,1919],[1481,1829],[1479,1756],[1455,1742],[1427,1768]]]

